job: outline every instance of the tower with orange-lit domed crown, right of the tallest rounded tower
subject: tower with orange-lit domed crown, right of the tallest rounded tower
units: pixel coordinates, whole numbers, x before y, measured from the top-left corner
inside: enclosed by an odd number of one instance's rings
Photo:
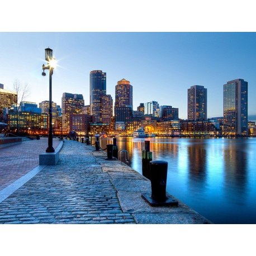
[[[116,85],[116,107],[130,107],[132,108],[132,86],[130,81],[122,79]]]

